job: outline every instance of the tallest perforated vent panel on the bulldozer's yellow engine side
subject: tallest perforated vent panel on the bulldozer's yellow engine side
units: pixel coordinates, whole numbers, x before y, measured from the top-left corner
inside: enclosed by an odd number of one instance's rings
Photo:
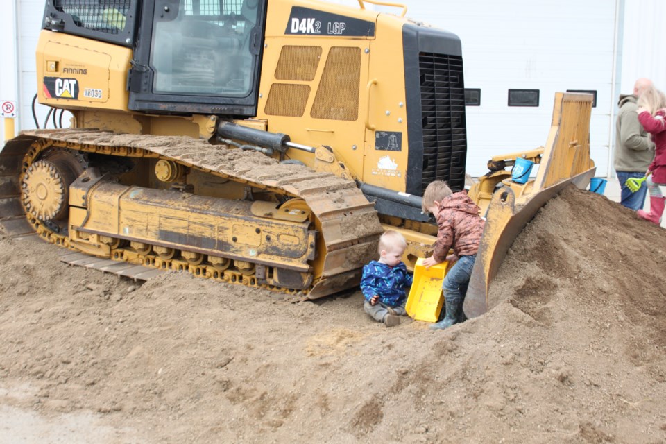
[[[333,47],[328,53],[310,115],[355,121],[359,116],[361,49]]]

